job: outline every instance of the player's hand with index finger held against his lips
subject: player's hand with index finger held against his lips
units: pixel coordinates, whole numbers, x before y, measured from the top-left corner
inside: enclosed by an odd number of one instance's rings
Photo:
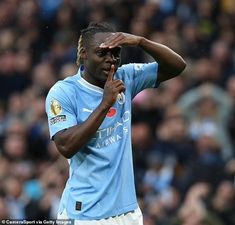
[[[114,65],[111,65],[111,69],[108,73],[108,77],[104,86],[104,95],[102,103],[107,107],[111,107],[117,98],[117,95],[125,91],[125,86],[122,80],[114,80],[113,76],[115,73]]]

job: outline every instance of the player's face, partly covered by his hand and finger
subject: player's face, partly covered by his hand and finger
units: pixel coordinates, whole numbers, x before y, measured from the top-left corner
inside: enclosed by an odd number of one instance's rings
[[[97,33],[90,41],[89,46],[85,47],[86,58],[84,61],[85,79],[99,87],[104,87],[111,65],[115,66],[115,71],[120,64],[121,47],[100,48],[100,44],[111,33]]]

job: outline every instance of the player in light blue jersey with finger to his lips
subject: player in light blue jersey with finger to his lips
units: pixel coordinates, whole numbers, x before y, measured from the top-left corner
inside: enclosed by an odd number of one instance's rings
[[[121,48],[127,45],[141,47],[156,62],[119,67]],[[58,218],[109,225],[121,224],[122,218],[142,225],[132,164],[131,100],[180,74],[185,62],[166,46],[92,23],[81,32],[77,64],[78,73],[57,82],[46,99],[50,136],[70,165]]]

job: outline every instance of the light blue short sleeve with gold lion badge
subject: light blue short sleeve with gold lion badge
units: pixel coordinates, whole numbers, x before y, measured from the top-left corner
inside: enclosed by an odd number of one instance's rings
[[[60,83],[56,83],[49,91],[46,98],[46,113],[48,117],[48,126],[50,138],[64,129],[77,124],[77,116],[72,104],[72,91],[66,88],[66,93]]]

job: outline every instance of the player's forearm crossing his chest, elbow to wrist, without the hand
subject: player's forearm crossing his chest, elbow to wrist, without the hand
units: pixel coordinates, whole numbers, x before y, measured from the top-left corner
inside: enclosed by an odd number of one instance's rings
[[[76,154],[95,135],[109,108],[101,103],[84,123],[58,132],[54,141],[59,152],[66,158]]]

